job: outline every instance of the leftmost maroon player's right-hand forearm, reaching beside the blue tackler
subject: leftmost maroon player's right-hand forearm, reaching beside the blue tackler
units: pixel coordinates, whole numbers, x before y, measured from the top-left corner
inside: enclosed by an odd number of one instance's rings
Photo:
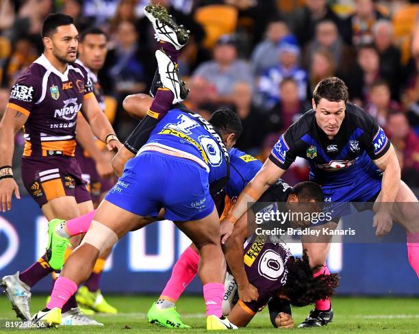
[[[97,136],[102,142],[105,142],[107,149],[117,152],[122,144],[116,137],[110,121],[107,120],[105,114],[102,112],[96,97],[93,96],[84,99],[81,110],[92,128],[94,136]]]

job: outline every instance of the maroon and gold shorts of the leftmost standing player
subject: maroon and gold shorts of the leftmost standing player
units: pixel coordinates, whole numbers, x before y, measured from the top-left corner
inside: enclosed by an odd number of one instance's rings
[[[62,196],[73,196],[77,203],[91,201],[75,157],[22,157],[22,179],[40,207]]]

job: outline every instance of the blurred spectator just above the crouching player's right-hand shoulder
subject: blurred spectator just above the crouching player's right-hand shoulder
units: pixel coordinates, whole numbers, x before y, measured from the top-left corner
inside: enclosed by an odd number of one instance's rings
[[[401,110],[401,107],[396,101],[392,101],[387,82],[377,80],[370,87],[370,102],[366,105],[365,110],[377,119],[381,127],[385,127],[388,115]]]

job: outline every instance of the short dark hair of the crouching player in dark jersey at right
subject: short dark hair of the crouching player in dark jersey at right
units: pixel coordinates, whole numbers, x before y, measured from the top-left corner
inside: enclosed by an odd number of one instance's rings
[[[321,99],[327,99],[327,101],[339,102],[348,101],[348,87],[346,87],[344,81],[338,77],[328,77],[322,79],[314,88],[313,99],[316,105]]]

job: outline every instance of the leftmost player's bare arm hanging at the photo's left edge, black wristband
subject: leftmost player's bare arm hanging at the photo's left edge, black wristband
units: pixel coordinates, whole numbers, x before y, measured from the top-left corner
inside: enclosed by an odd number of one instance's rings
[[[21,112],[6,108],[0,123],[0,209],[5,212],[12,207],[12,194],[21,198],[16,181],[13,179],[12,158],[14,136],[26,123],[27,117]]]

